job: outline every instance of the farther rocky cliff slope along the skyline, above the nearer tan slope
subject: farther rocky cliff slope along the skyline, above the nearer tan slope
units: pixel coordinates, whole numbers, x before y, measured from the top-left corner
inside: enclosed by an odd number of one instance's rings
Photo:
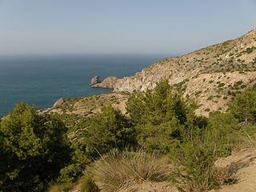
[[[256,69],[256,29],[240,38],[196,50],[181,58],[166,58],[154,63],[134,76],[118,79],[114,91],[153,89],[155,82],[168,78],[170,84],[199,74],[233,72]]]

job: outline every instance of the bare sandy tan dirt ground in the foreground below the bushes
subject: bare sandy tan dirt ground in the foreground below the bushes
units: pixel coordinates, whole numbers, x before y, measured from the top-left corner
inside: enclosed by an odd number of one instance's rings
[[[227,158],[221,158],[216,166],[228,168],[237,182],[222,186],[212,192],[255,192],[256,191],[256,146],[241,150]],[[122,192],[176,192],[169,182],[143,182]]]

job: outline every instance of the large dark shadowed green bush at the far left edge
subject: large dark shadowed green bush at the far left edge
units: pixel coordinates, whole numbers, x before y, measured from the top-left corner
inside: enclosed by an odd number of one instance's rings
[[[0,126],[0,190],[45,190],[70,161],[66,130],[58,119],[40,115],[34,107],[16,106]]]

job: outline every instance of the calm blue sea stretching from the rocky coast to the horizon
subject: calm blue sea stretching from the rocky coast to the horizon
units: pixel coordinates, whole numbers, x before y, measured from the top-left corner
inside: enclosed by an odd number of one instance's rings
[[[90,88],[90,78],[123,78],[167,55],[0,56],[0,117],[27,102],[39,109],[58,98],[109,92]]]

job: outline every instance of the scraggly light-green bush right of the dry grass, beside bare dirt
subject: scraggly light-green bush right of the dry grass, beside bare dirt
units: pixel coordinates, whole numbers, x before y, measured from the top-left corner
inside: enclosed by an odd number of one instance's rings
[[[230,178],[226,170],[214,166],[215,142],[208,142],[198,133],[192,140],[183,143],[173,156],[176,165],[170,174],[170,181],[181,191],[214,189]]]

